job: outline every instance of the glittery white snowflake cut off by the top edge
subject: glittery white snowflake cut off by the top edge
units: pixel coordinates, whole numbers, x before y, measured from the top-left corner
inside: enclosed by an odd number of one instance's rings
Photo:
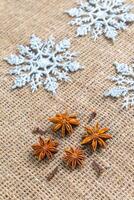
[[[75,18],[69,24],[78,26],[77,36],[90,33],[96,40],[104,34],[115,40],[117,30],[126,29],[127,24],[134,21],[132,8],[133,5],[125,4],[124,0],[85,0],[66,13]]]

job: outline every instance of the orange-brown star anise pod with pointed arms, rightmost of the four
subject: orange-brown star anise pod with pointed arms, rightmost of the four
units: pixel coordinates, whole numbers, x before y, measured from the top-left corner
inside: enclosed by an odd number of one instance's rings
[[[112,135],[107,134],[109,128],[100,128],[99,123],[96,123],[93,127],[85,127],[87,134],[83,136],[81,144],[91,145],[93,151],[97,149],[97,145],[106,147],[105,140],[112,138]]]

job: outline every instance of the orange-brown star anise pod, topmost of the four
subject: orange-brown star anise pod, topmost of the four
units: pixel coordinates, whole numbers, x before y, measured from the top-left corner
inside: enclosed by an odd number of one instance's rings
[[[49,121],[55,124],[52,127],[53,132],[61,129],[62,137],[64,137],[66,133],[71,134],[73,132],[73,126],[78,126],[80,124],[77,115],[69,115],[67,112],[56,114],[54,117],[49,118]]]

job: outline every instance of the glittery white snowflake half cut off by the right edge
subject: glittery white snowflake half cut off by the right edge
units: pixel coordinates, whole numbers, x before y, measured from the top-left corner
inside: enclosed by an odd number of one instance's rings
[[[134,64],[115,63],[117,76],[110,79],[116,83],[116,86],[104,93],[105,96],[124,97],[123,107],[128,108],[134,105]]]

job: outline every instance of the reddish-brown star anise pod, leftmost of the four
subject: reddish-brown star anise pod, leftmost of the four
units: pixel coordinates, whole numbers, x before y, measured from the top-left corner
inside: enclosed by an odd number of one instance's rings
[[[32,145],[34,155],[43,160],[44,158],[52,158],[53,154],[57,152],[58,142],[52,138],[43,139],[39,137],[39,142]]]

